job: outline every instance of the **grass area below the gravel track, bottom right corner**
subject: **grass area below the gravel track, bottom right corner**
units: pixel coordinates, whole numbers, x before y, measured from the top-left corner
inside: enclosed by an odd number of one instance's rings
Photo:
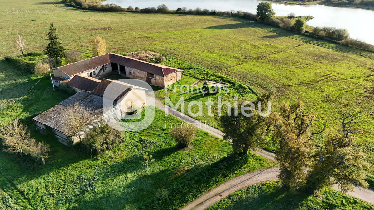
[[[324,189],[316,195],[290,192],[280,182],[241,189],[214,204],[213,209],[374,209],[374,206],[337,191]]]

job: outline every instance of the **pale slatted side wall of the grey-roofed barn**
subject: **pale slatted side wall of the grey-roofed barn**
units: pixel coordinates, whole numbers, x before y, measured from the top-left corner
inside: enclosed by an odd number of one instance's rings
[[[93,128],[101,125],[103,122],[113,122],[116,120],[121,119],[121,106],[120,104],[114,106],[109,111],[105,112],[103,115],[101,115],[99,118],[97,118],[95,121],[90,123],[88,126],[86,126],[84,129],[82,129],[79,133],[74,135],[71,139],[77,139],[79,136],[85,135],[87,132],[92,130]]]

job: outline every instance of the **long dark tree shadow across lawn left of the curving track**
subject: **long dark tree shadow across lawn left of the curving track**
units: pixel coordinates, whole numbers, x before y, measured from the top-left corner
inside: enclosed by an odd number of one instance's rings
[[[169,152],[174,152],[169,148]],[[155,155],[159,157],[159,155]],[[230,155],[206,166],[173,167],[147,172],[120,189],[109,189],[98,197],[80,200],[73,209],[85,209],[106,203],[109,209],[179,209],[202,195],[248,162],[248,155]],[[162,192],[162,193],[160,193]]]

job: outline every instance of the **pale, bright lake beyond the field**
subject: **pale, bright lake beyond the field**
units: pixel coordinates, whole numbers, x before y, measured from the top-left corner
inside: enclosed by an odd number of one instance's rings
[[[157,7],[165,4],[171,10],[178,7],[187,7],[187,9],[215,9],[221,11],[242,10],[245,12],[256,12],[258,0],[107,0],[103,4],[113,3],[121,7]],[[374,11],[366,9],[332,7],[325,5],[295,5],[272,3],[273,10],[277,16],[287,16],[293,12],[296,16],[311,15],[314,19],[307,21],[307,24],[313,27],[336,27],[348,30],[350,37],[374,44]]]

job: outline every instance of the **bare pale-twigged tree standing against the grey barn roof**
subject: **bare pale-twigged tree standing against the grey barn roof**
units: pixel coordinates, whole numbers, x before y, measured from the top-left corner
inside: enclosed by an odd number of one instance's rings
[[[88,109],[83,104],[75,102],[74,104],[67,106],[62,117],[62,121],[65,123],[64,132],[68,136],[76,135],[87,126],[90,118],[91,109]],[[82,140],[80,135],[78,137]]]

